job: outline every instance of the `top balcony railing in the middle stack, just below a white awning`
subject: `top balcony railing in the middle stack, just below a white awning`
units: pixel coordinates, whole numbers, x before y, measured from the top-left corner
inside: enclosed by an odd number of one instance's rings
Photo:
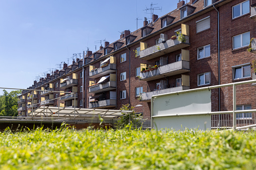
[[[90,71],[89,72],[89,77],[95,79],[95,78],[102,77],[104,75],[113,73],[115,71],[116,71],[116,64],[109,64],[105,67],[98,68],[98,69]]]

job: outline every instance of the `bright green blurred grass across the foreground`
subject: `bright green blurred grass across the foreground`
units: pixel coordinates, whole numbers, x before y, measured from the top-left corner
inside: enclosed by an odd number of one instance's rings
[[[0,169],[256,169],[255,133],[41,130],[0,133]]]

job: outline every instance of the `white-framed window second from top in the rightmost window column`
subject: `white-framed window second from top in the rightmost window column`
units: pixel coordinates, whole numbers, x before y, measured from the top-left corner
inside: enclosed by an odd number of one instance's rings
[[[246,47],[250,44],[250,32],[233,37],[233,49]]]

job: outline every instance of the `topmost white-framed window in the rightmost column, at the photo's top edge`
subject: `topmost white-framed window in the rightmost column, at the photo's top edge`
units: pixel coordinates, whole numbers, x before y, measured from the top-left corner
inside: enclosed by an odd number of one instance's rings
[[[232,8],[232,18],[240,17],[244,14],[248,14],[250,12],[250,4],[249,1],[245,1],[240,3]]]

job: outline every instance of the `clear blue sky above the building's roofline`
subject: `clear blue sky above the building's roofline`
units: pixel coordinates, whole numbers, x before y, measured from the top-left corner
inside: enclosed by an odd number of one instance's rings
[[[119,32],[135,31],[136,18],[141,28],[151,3],[160,17],[178,0],[0,0],[0,87],[27,88],[56,64],[70,64],[73,54],[98,50],[95,41],[112,43]]]

